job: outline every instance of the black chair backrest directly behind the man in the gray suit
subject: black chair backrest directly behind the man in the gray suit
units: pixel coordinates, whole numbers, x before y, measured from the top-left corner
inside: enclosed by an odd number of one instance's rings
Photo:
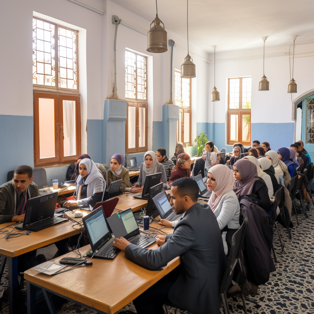
[[[247,222],[248,218],[244,217],[241,227],[232,236],[227,268],[225,270],[224,278],[222,279],[222,283],[220,286],[220,293],[224,293],[225,291],[227,292],[231,285],[233,273],[235,271],[235,266],[238,263],[239,255],[241,253]]]

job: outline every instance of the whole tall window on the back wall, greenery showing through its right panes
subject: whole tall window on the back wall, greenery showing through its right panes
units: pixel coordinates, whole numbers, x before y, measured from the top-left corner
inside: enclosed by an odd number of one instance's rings
[[[229,78],[227,143],[251,143],[252,78]]]

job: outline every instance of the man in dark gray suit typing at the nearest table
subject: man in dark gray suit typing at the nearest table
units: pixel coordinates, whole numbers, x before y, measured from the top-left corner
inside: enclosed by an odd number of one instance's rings
[[[193,314],[218,314],[227,261],[217,219],[207,204],[197,203],[198,185],[192,178],[173,181],[170,197],[175,213],[184,216],[173,234],[158,236],[158,249],[143,249],[123,237],[113,244],[125,251],[125,257],[148,269],[160,268],[181,256],[181,265],[133,304],[138,314],[162,314],[162,305],[169,300]]]

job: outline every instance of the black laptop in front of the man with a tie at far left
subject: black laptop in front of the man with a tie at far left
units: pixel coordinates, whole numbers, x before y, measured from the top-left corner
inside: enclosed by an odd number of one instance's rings
[[[57,198],[58,192],[29,198],[25,205],[24,221],[14,227],[19,230],[39,231],[68,220],[54,217]]]

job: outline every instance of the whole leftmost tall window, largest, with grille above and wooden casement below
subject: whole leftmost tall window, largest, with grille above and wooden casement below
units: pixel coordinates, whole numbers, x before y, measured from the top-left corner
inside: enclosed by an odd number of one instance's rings
[[[77,160],[81,154],[78,31],[33,18],[33,91],[34,165]]]

